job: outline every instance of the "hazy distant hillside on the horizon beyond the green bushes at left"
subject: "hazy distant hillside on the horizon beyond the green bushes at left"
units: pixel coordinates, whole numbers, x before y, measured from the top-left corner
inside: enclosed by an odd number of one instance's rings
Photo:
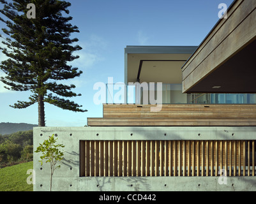
[[[27,123],[11,123],[11,122],[1,122],[0,123],[0,135],[9,135],[11,133],[16,133],[18,131],[31,130],[38,125],[27,124]]]

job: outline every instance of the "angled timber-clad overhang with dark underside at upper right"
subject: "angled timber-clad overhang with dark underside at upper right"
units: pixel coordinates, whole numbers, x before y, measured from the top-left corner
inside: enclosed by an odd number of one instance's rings
[[[256,92],[256,1],[237,0],[184,64],[183,92]]]

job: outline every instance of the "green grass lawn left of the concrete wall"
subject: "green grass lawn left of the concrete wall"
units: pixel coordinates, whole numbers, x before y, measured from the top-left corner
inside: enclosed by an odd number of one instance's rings
[[[27,184],[27,170],[33,169],[33,161],[8,166],[0,170],[0,191],[33,191],[33,184]]]

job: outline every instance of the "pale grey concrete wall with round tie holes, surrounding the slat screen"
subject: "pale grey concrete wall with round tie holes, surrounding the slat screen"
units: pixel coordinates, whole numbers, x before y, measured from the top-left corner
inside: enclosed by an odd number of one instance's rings
[[[256,127],[34,128],[34,151],[52,134],[65,145],[52,191],[255,191],[255,177],[79,177],[80,140],[255,140]],[[49,163],[34,153],[34,191],[50,190]],[[221,183],[221,184],[220,184]]]

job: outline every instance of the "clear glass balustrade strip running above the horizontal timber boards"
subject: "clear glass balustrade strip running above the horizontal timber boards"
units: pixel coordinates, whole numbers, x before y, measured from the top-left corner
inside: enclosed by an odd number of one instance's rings
[[[106,104],[256,104],[256,94],[182,93],[181,84],[106,84]]]

